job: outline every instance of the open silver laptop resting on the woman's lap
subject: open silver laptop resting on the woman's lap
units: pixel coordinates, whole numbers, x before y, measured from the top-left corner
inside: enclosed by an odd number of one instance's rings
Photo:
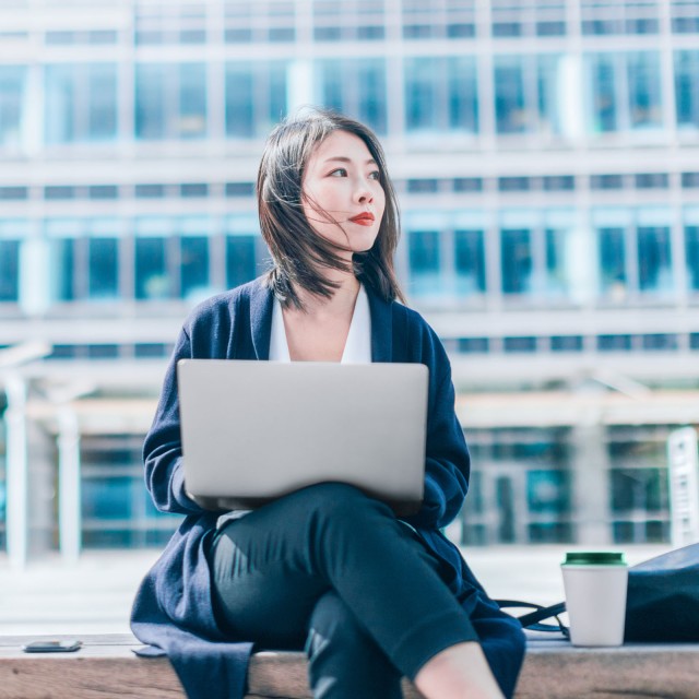
[[[185,485],[202,507],[341,482],[398,514],[419,509],[426,366],[181,359],[177,378]]]

